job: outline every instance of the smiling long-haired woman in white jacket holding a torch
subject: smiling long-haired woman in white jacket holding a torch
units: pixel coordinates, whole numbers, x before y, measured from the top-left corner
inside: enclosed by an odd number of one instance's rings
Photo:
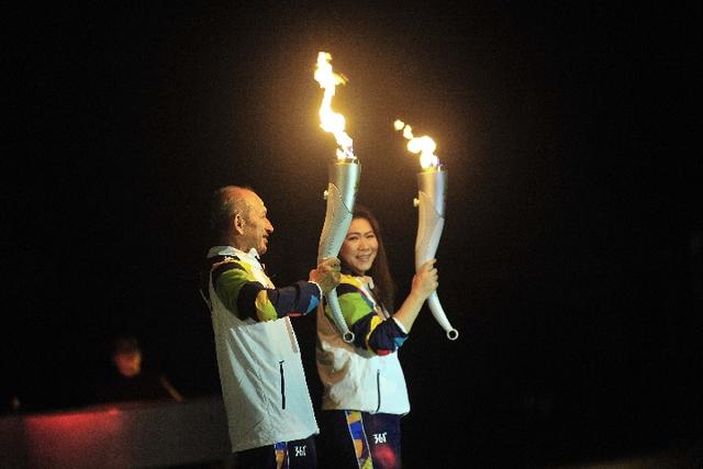
[[[398,349],[425,299],[437,288],[434,259],[425,263],[393,314],[393,283],[376,216],[358,205],[339,253],[337,287],[347,343],[333,326],[331,308],[317,312],[317,371],[322,399],[321,467],[401,467],[400,418],[410,400]],[[370,275],[370,276],[367,276]]]

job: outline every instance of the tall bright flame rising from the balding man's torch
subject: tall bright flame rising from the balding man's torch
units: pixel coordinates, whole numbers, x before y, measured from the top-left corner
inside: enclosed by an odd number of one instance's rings
[[[352,147],[352,137],[344,132],[346,124],[344,115],[332,110],[332,97],[334,97],[335,87],[344,85],[347,79],[332,71],[330,60],[332,55],[326,52],[317,54],[317,68],[315,69],[315,81],[320,83],[320,88],[325,90],[320,105],[320,126],[323,131],[334,134],[337,141],[337,158],[356,159]]]

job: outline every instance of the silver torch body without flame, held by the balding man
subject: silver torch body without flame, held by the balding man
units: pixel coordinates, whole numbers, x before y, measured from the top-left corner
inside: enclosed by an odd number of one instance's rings
[[[356,159],[336,159],[330,165],[330,180],[325,199],[327,211],[320,235],[317,264],[328,257],[337,257],[342,244],[352,224],[354,202],[359,187],[361,165]],[[349,331],[337,299],[336,289],[327,293],[327,303],[332,310],[332,320],[345,342],[354,342],[354,333]]]

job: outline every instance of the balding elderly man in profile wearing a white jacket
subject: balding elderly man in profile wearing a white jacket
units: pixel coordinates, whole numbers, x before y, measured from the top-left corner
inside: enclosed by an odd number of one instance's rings
[[[308,314],[339,282],[325,259],[308,281],[275,288],[259,264],[274,226],[249,188],[214,193],[203,297],[212,313],[232,450],[245,468],[316,467],[319,433],[290,316]],[[281,466],[282,464],[282,466]]]

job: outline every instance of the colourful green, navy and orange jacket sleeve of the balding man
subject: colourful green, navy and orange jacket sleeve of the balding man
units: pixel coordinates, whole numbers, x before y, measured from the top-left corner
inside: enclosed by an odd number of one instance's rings
[[[320,303],[320,289],[314,283],[299,281],[289,287],[267,289],[249,280],[245,266],[238,260],[214,267],[212,282],[222,303],[243,320],[271,321],[308,314]]]

